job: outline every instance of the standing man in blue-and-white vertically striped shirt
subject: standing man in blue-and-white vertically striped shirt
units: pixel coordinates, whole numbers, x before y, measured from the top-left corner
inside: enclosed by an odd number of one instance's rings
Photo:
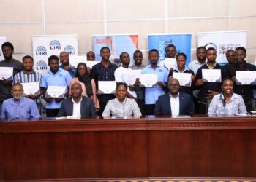
[[[41,111],[41,100],[40,95],[40,87],[39,87],[39,82],[41,81],[42,74],[39,74],[39,72],[34,71],[33,66],[34,66],[34,59],[30,55],[26,55],[22,58],[22,63],[23,63],[23,68],[24,70],[19,72],[18,74],[15,74],[13,77],[13,84],[16,83],[34,83],[37,82],[37,84],[34,84],[34,87],[38,86],[37,93],[29,93],[26,94],[26,98],[31,98],[34,100],[35,103],[37,103],[37,107],[39,109],[39,112]],[[23,86],[24,89],[25,86]]]

